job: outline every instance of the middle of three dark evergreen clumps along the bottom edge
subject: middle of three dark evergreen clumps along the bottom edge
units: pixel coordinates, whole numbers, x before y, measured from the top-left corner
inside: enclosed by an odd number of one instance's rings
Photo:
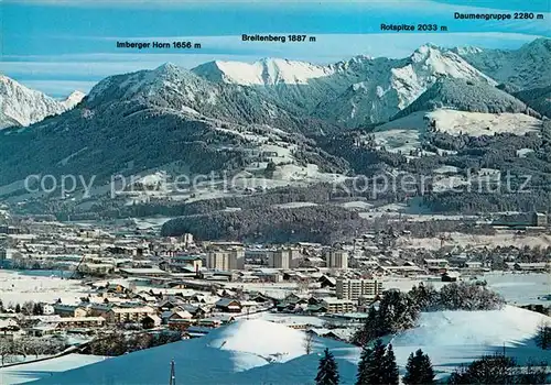
[[[398,365],[392,345],[385,348],[380,339],[372,348],[364,345],[356,375],[356,385],[399,384]]]

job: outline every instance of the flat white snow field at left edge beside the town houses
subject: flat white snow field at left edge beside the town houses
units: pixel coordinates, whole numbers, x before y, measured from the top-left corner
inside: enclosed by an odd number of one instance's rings
[[[53,302],[58,298],[64,304],[76,304],[85,290],[79,280],[62,279],[58,272],[0,270],[0,299],[4,306],[29,300]]]

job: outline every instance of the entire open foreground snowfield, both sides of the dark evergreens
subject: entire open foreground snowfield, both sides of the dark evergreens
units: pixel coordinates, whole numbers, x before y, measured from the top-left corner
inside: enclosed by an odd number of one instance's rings
[[[493,311],[422,314],[419,327],[390,339],[400,373],[408,355],[421,348],[439,376],[482,354],[505,352],[520,362],[551,361],[533,334],[551,318],[506,306]],[[359,349],[316,339],[311,354],[304,333],[264,320],[241,320],[208,336],[130,353],[43,378],[40,384],[164,384],[174,360],[176,381],[185,384],[313,384],[320,353],[328,346],[337,359],[342,384],[354,384]],[[180,380],[179,380],[180,378]]]

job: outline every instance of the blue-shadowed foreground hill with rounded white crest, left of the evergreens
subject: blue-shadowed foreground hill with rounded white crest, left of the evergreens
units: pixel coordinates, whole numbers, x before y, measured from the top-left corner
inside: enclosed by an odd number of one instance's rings
[[[44,384],[163,384],[174,360],[177,383],[235,384],[235,373],[277,365],[305,354],[304,332],[262,320],[242,320],[201,339],[171,343],[54,375]],[[316,340],[315,353],[345,343]],[[273,363],[270,363],[273,362]],[[258,383],[258,382],[256,382]]]

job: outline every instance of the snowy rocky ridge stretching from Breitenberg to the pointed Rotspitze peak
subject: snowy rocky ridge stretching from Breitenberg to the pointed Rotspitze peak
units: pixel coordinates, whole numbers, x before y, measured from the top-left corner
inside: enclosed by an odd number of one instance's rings
[[[439,78],[497,85],[456,53],[430,44],[403,59],[357,56],[326,66],[283,59],[210,62],[192,72],[210,81],[262,87],[283,102],[304,106],[302,112],[346,127],[388,120]]]

